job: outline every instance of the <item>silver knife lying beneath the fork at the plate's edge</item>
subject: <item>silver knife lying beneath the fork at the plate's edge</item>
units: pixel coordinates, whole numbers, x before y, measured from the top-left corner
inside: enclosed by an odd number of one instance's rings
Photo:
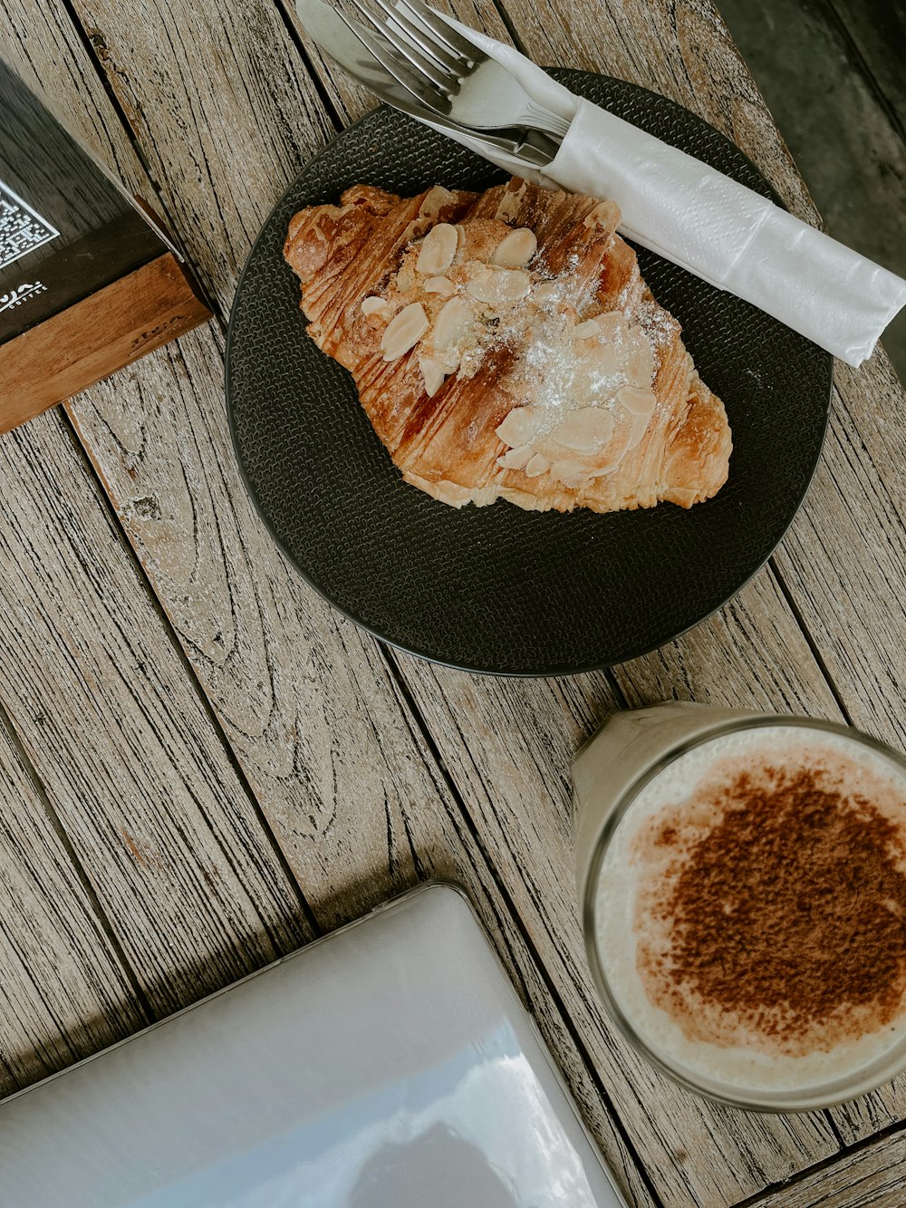
[[[420,106],[349,29],[349,25],[358,25],[358,22],[339,17],[336,8],[324,0],[296,0],[296,12],[306,31],[324,53],[384,104],[435,129],[467,135],[475,144],[483,144],[490,151],[503,151],[533,168],[545,168],[553,158],[556,144],[538,132],[522,129],[478,132],[460,126],[426,106]],[[372,37],[379,36],[371,30],[370,33]]]

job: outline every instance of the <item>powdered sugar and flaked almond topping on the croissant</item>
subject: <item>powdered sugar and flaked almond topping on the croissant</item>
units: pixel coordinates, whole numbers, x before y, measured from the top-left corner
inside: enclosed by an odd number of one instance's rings
[[[505,352],[500,364],[507,368],[495,385],[513,408],[530,411],[532,436],[512,445],[504,432],[519,432],[519,425],[499,426],[499,439],[515,451],[498,459],[501,469],[528,477],[550,470],[569,486],[610,474],[651,420],[657,350],[678,330],[674,320],[644,297],[638,267],[617,306],[603,309],[610,239],[558,251],[554,263],[542,249],[523,267],[492,262],[511,233],[503,223],[478,220],[457,230],[459,245],[445,271],[449,288],[424,289],[431,278],[419,273],[420,249],[412,244],[387,298],[394,314],[395,296],[418,297],[430,316],[417,353],[431,370],[431,393],[439,389],[435,371],[469,379],[488,356]]]

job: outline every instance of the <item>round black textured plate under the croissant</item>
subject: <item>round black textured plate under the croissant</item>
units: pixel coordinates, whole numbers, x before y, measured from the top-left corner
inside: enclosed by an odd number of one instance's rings
[[[574,92],[765,196],[742,152],[687,110],[633,85],[553,71]],[[487,161],[391,109],[344,130],[302,172],[249,256],[233,306],[227,397],[236,449],[272,533],[302,575],[377,637],[469,670],[561,674],[669,641],[739,591],[790,524],[827,420],[831,358],[789,327],[639,251],[733,429],[730,481],[683,511],[455,511],[403,483],[352,377],[304,331],[283,260],[291,215],[360,181],[412,196],[483,190]]]

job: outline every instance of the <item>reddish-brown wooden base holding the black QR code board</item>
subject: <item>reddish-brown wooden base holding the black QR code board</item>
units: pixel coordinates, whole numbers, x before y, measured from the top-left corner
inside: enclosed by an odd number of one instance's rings
[[[146,263],[0,344],[0,432],[210,318],[187,268],[161,240],[153,252]]]

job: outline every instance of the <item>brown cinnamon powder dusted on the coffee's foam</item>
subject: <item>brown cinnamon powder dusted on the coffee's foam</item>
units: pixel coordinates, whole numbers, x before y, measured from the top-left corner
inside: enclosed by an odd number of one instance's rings
[[[906,1010],[906,801],[853,783],[737,762],[638,836],[638,970],[689,1039],[801,1056]]]

